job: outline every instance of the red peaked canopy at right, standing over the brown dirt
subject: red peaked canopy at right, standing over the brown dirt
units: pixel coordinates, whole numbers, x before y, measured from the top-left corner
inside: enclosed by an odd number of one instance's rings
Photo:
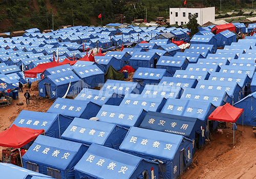
[[[244,109],[231,106],[226,103],[223,106],[218,106],[208,117],[208,120],[222,122],[236,122]]]

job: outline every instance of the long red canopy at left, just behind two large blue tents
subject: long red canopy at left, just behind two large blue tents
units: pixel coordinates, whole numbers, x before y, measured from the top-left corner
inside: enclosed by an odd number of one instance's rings
[[[56,61],[52,61],[52,62],[49,62],[49,63],[38,64],[35,68],[25,71],[24,72],[25,77],[36,78],[36,75],[38,73],[42,73],[46,69],[53,68],[53,67],[59,66],[59,65],[61,65],[61,64],[57,63]]]

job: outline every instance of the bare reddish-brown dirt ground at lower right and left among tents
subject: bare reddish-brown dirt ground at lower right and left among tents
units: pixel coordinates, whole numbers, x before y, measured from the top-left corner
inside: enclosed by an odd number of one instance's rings
[[[131,80],[131,76],[126,79]],[[16,105],[18,100],[13,100],[10,106],[0,107],[0,131],[8,128],[19,112],[23,109],[45,112],[53,104],[53,100],[38,97],[36,84],[32,84],[30,105],[26,105],[23,94],[20,94],[20,101],[24,105]],[[25,88],[26,90],[26,88]],[[231,124],[227,128],[222,128],[223,133],[218,131],[210,136],[210,142],[196,151],[193,156],[193,164],[183,173],[181,179],[252,179],[256,178],[256,138],[251,127],[242,128],[238,125],[235,132],[235,147],[233,147],[233,131]],[[0,156],[2,158],[0,147]]]

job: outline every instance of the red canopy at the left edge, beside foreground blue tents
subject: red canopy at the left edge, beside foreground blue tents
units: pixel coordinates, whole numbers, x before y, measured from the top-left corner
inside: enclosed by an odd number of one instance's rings
[[[8,129],[0,132],[0,146],[20,148],[44,132],[44,129],[35,130],[27,127],[17,127],[13,124]]]

